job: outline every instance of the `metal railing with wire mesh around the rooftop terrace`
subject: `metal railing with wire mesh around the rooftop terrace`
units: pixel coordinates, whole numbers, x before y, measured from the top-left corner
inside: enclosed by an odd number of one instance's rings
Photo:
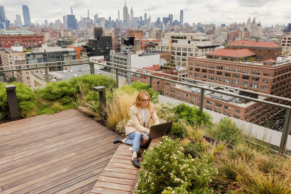
[[[72,61],[79,62],[80,60],[72,60]],[[82,61],[84,61],[84,60],[82,59]],[[167,82],[167,83],[181,84],[183,86],[187,86],[187,87],[190,87],[190,88],[200,89],[200,94],[195,94],[196,95],[195,97],[197,97],[198,98],[198,101],[199,101],[199,103],[196,104],[197,106],[199,106],[199,111],[203,111],[203,109],[209,109],[209,107],[207,106],[207,103],[208,102],[205,99],[210,99],[211,95],[209,96],[208,94],[206,94],[206,91],[208,91],[209,93],[212,93],[212,94],[213,93],[217,93],[217,94],[221,94],[221,95],[226,95],[228,97],[234,97],[234,98],[238,98],[238,99],[243,99],[244,101],[253,102],[253,105],[254,104],[258,104],[260,106],[263,105],[264,110],[266,110],[266,109],[267,110],[271,110],[272,109],[272,110],[276,110],[276,111],[278,111],[280,113],[279,117],[280,117],[281,120],[275,120],[274,119],[274,120],[271,120],[271,123],[273,125],[276,125],[276,126],[282,125],[282,126],[280,126],[280,127],[282,127],[282,129],[280,129],[280,131],[282,131],[282,134],[281,134],[281,137],[278,137],[278,138],[280,138],[280,140],[278,140],[280,142],[279,143],[279,150],[280,151],[285,151],[285,149],[286,149],[288,135],[289,135],[289,131],[290,131],[290,124],[291,124],[291,107],[290,106],[287,106],[287,105],[284,105],[284,104],[270,102],[270,101],[267,101],[265,99],[266,98],[274,98],[274,99],[278,99],[278,100],[281,100],[281,101],[282,100],[283,101],[291,101],[291,99],[289,99],[289,98],[277,97],[277,96],[270,95],[270,94],[264,94],[264,93],[259,93],[259,92],[255,92],[255,91],[245,90],[245,89],[241,89],[241,88],[229,87],[229,86],[220,85],[220,84],[216,84],[216,83],[209,83],[209,82],[205,82],[205,81],[201,81],[201,80],[194,80],[194,79],[190,79],[190,78],[183,77],[184,80],[188,80],[188,81],[192,81],[192,82],[196,82],[196,83],[200,83],[200,84],[208,84],[209,87],[206,88],[204,86],[200,86],[200,85],[197,85],[197,84],[196,85],[193,85],[193,84],[187,83],[187,82],[181,82],[181,81],[177,81],[177,80],[168,79],[166,77],[156,76],[156,75],[151,74],[151,73],[157,73],[157,72],[151,71],[151,70],[145,70],[145,69],[141,69],[141,68],[135,68],[135,67],[132,67],[132,66],[126,66],[126,65],[121,65],[121,64],[112,63],[112,62],[106,62],[106,64],[103,64],[105,62],[103,60],[89,60],[89,59],[86,59],[86,61],[88,61],[88,62],[73,63],[73,64],[60,64],[60,65],[52,65],[52,66],[40,66],[40,65],[46,65],[46,64],[49,64],[49,63],[26,64],[26,65],[29,65],[29,66],[34,66],[35,65],[35,67],[23,68],[23,69],[13,69],[13,70],[0,70],[0,73],[2,73],[2,72],[3,73],[4,72],[12,72],[12,71],[23,71],[23,70],[45,69],[46,82],[49,82],[50,80],[49,80],[49,70],[48,70],[48,68],[52,68],[52,67],[65,67],[65,66],[79,66],[79,65],[89,64],[90,74],[95,74],[94,65],[96,64],[96,65],[99,65],[99,66],[107,67],[110,70],[111,69],[114,69],[115,70],[115,73],[116,73],[115,74],[115,79],[116,79],[116,82],[117,82],[117,86],[119,85],[119,83],[118,83],[119,82],[119,79],[118,78],[120,77],[119,76],[119,72],[125,71],[127,73],[139,74],[140,76],[148,77],[148,80],[145,80],[145,81],[146,81],[146,83],[149,83],[150,87],[153,88],[154,90],[158,90],[159,89],[158,87],[156,87],[154,85],[154,82],[156,82],[157,80],[161,80],[161,81],[164,81],[164,82]],[[64,62],[67,62],[67,61],[52,62],[52,63],[64,63]],[[18,66],[26,66],[26,65],[18,65]],[[8,67],[8,66],[6,66],[6,67]],[[16,66],[9,66],[9,67],[16,67]],[[145,71],[146,73],[133,71],[131,69],[142,70],[142,71]],[[171,76],[171,77],[181,78],[179,76],[175,76],[175,75],[171,75],[171,74],[166,74],[166,73],[161,73],[161,72],[159,72],[159,74],[165,75],[165,76]],[[264,97],[264,99],[263,98],[262,99],[260,99],[260,98],[252,98],[252,97],[242,96],[242,95],[234,94],[234,93],[233,94],[227,93],[227,92],[224,92],[224,91],[221,91],[221,90],[217,90],[217,89],[215,89],[213,87],[211,88],[211,85],[212,86],[217,86],[217,87],[229,88],[229,89],[233,89],[233,90],[238,90],[238,91],[241,91],[241,92],[247,92],[249,94],[257,94],[259,96]],[[177,89],[177,92],[178,92],[178,89]],[[178,99],[178,94],[177,94],[177,99]],[[212,101],[214,102],[215,99],[213,99]],[[239,108],[239,106],[237,106],[237,105],[233,105],[233,107]],[[252,109],[253,109],[253,107],[252,107]],[[274,109],[274,108],[276,108],[276,109]],[[237,110],[239,110],[239,109],[237,109]],[[259,112],[259,111],[254,110],[253,112]],[[264,112],[266,112],[266,111],[264,111]],[[256,114],[255,113],[253,116],[257,116],[258,117],[259,114]],[[278,121],[281,121],[281,123],[278,123]],[[274,131],[278,131],[278,130],[274,130]]]

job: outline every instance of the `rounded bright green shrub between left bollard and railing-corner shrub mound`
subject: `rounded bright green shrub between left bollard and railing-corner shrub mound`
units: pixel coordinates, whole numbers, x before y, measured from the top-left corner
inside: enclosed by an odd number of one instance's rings
[[[44,89],[37,90],[39,97],[45,100],[57,100],[65,96],[73,97],[76,93],[76,88],[71,83],[59,81],[48,83]]]

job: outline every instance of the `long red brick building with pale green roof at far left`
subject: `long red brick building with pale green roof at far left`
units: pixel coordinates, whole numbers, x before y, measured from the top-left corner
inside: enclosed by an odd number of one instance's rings
[[[28,30],[7,30],[1,33],[0,47],[10,48],[15,46],[16,42],[19,46],[32,48],[37,48],[45,43],[43,35],[37,35],[35,32]]]

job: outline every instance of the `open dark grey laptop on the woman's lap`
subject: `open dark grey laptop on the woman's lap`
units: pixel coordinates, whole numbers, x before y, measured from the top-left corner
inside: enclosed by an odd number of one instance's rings
[[[159,138],[168,135],[171,132],[173,121],[152,125],[149,134],[142,132],[142,135],[147,139]]]

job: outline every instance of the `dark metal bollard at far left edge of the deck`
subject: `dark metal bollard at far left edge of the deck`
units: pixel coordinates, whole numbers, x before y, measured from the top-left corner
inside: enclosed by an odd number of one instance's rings
[[[18,102],[16,98],[16,92],[15,92],[15,85],[9,85],[5,86],[6,88],[6,94],[7,94],[7,100],[10,110],[10,116],[11,119],[19,118],[19,109],[18,109]]]

